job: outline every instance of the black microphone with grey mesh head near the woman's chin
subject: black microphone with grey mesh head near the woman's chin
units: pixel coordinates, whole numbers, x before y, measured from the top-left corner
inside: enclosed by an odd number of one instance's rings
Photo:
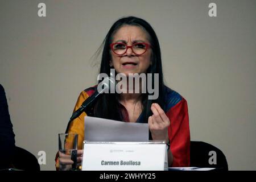
[[[115,88],[114,78],[113,77],[105,77],[104,80],[102,82],[100,82],[100,84],[97,85],[97,88],[100,88],[100,90],[96,89],[96,91],[92,94],[92,96],[88,97],[84,102],[82,102],[82,105],[79,107],[79,109],[77,109],[72,114],[71,118],[69,119],[68,126],[67,126],[65,133],[68,133],[68,128],[69,128],[70,123],[74,119],[79,117],[79,115],[82,114],[83,111],[88,109],[88,107],[91,106],[92,103],[95,102],[97,100],[97,98],[101,96],[101,94],[105,93],[106,90],[109,90],[109,92],[110,92],[110,88]]]

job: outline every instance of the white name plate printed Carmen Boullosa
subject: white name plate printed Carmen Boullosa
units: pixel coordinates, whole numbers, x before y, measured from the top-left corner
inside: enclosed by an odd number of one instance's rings
[[[164,142],[84,141],[82,171],[163,171],[168,169]]]

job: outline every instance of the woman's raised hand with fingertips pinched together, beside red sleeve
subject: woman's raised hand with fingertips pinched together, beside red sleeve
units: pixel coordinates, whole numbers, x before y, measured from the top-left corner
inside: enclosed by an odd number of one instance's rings
[[[148,127],[153,140],[165,140],[168,142],[168,127],[170,120],[163,109],[156,103],[151,105],[153,115],[148,117]]]

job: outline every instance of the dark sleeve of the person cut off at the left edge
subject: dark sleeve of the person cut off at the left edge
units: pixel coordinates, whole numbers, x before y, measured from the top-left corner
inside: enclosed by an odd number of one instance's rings
[[[6,168],[10,163],[15,148],[14,137],[5,90],[0,84],[0,168]]]

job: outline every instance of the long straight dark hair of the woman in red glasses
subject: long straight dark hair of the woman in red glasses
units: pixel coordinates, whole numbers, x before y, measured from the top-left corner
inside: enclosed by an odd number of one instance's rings
[[[100,73],[106,73],[110,76],[110,65],[109,61],[112,59],[110,55],[110,44],[112,43],[113,36],[119,28],[125,25],[138,26],[141,27],[144,31],[150,35],[150,44],[151,44],[151,61],[152,64],[147,69],[147,73],[158,73],[159,74],[159,97],[156,100],[148,100],[148,93],[142,94],[142,121],[147,123],[148,117],[152,115],[151,104],[158,103],[162,109],[165,107],[164,96],[165,96],[165,87],[163,83],[163,71],[162,71],[162,60],[160,46],[158,38],[155,34],[155,31],[145,20],[137,18],[134,16],[128,16],[117,20],[110,28],[108,34],[106,35],[102,45],[102,58],[101,58],[101,67]],[[152,74],[153,75],[153,74]],[[153,77],[154,78],[154,77]],[[100,82],[100,81],[99,81]],[[152,79],[152,86],[154,86],[154,79]],[[158,85],[156,85],[158,86]],[[93,115],[95,117],[114,119],[118,121],[123,121],[122,114],[118,110],[118,94],[103,94],[102,97],[96,102],[93,109]]]

